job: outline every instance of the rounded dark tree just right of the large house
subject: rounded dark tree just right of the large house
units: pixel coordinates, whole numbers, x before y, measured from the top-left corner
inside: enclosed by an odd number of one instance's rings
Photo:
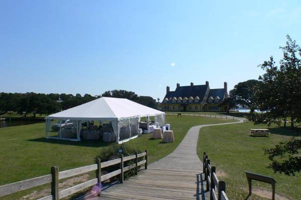
[[[234,88],[230,90],[230,98],[228,101],[232,104],[234,101],[236,105],[247,107],[253,112],[256,107],[254,93],[256,88],[260,87],[261,84],[261,81],[255,79],[237,83]]]

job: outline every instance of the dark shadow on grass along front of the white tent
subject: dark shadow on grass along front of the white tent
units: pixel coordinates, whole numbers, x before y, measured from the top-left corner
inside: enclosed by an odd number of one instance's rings
[[[107,143],[100,140],[69,141],[69,140],[60,140],[60,139],[46,139],[45,137],[28,139],[27,141],[55,143],[55,144],[64,144],[64,145],[73,145],[73,146],[89,146],[89,147],[109,146],[116,143],[116,142]]]

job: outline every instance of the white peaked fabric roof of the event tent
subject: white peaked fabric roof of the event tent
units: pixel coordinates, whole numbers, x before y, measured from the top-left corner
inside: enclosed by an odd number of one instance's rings
[[[164,112],[141,105],[126,98],[101,97],[46,116],[46,119],[119,120],[137,116],[143,117],[160,114],[164,114]]]

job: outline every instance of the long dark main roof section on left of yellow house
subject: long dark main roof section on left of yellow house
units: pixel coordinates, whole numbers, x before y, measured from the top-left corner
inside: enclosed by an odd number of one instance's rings
[[[201,85],[188,85],[188,86],[180,86],[177,87],[175,91],[169,91],[166,93],[164,98],[170,98],[170,97],[196,97],[199,96],[200,99],[204,99],[206,90],[209,86],[206,84],[201,84]]]

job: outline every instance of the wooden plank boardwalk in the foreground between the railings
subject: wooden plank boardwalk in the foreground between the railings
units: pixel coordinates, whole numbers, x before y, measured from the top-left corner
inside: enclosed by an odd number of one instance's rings
[[[209,199],[204,174],[196,170],[147,168],[104,188],[94,199]]]

